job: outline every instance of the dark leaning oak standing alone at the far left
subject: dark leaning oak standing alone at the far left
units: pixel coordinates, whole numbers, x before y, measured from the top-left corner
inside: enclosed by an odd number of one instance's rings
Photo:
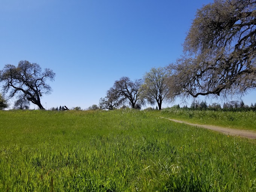
[[[31,101],[40,109],[44,109],[40,98],[43,94],[49,94],[52,89],[46,83],[49,79],[53,81],[55,73],[50,69],[44,69],[37,63],[30,63],[29,61],[20,61],[18,66],[7,64],[0,71],[0,82],[3,82],[3,92],[9,92],[9,98],[17,94],[22,94],[23,98]]]

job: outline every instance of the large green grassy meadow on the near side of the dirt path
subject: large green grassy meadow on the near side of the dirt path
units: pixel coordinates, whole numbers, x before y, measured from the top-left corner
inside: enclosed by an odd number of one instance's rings
[[[256,191],[255,140],[173,113],[0,111],[0,191]]]

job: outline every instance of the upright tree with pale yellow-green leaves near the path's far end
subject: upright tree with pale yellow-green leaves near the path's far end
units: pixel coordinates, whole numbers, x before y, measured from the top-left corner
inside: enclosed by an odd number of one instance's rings
[[[157,102],[159,110],[162,109],[162,102],[169,93],[168,77],[169,71],[166,67],[153,67],[143,78],[144,83],[141,88],[143,98],[146,98],[151,105]]]

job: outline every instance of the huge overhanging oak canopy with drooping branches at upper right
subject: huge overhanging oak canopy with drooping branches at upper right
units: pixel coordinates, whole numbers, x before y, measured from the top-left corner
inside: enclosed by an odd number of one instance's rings
[[[255,8],[255,0],[215,0],[197,11],[184,55],[171,66],[177,93],[227,96],[256,87]]]

